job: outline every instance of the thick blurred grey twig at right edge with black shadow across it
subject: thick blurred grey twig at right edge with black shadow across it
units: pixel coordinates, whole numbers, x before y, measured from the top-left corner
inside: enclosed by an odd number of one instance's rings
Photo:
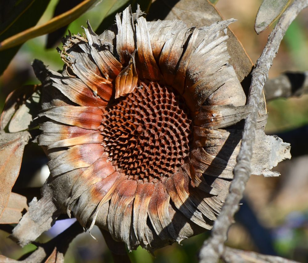
[[[263,91],[267,101],[308,93],[308,71],[285,72],[277,78],[269,79],[265,83]]]

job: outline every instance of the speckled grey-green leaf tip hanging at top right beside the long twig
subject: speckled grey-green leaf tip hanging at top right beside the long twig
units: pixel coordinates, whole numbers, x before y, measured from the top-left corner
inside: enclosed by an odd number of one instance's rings
[[[264,0],[257,12],[254,30],[260,34],[267,29],[286,9],[290,0]]]

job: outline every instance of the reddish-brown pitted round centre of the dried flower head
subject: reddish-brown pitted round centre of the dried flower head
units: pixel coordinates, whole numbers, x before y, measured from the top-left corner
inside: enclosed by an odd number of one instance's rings
[[[103,146],[113,164],[134,180],[158,182],[188,158],[192,118],[172,87],[140,83],[103,114]]]

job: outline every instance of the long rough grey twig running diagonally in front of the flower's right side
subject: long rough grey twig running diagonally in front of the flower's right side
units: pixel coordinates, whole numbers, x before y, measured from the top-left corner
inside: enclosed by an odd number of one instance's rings
[[[250,160],[255,140],[258,104],[264,83],[268,78],[268,71],[276,56],[280,42],[298,13],[308,6],[308,0],[295,0],[282,14],[274,30],[271,32],[261,57],[257,60],[252,72],[252,80],[248,96],[248,104],[253,105],[253,112],[245,121],[241,149],[234,168],[234,179],[230,186],[229,195],[221,209],[220,215],[214,223],[212,235],[201,248],[199,257],[201,263],[216,263],[224,252],[227,233],[233,223],[234,214],[238,210],[238,203],[243,196],[246,183],[250,177]]]

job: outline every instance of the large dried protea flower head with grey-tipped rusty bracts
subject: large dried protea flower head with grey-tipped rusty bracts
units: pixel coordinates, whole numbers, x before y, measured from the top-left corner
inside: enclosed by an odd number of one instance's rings
[[[39,143],[57,205],[129,249],[211,229],[250,107],[228,63],[229,23],[146,22],[131,8],[96,35],[64,39],[62,74],[43,83]],[[265,167],[266,168],[266,167]]]

